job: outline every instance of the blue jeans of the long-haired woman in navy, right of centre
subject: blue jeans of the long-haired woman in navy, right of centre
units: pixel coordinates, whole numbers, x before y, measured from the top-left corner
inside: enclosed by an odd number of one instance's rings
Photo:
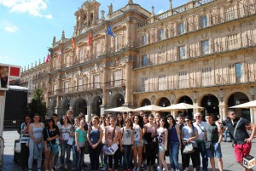
[[[179,150],[179,142],[170,142],[169,143],[169,158],[171,168],[174,170],[178,169],[178,150]]]

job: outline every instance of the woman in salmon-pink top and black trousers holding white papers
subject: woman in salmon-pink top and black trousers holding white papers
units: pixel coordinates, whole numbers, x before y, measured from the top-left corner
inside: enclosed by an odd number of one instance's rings
[[[113,144],[119,145],[119,137],[120,137],[120,128],[115,125],[114,117],[110,117],[110,125],[107,126],[105,131],[105,139],[110,147]],[[119,149],[115,151],[113,155],[108,156],[108,170],[112,170],[112,164],[114,163],[114,170],[118,170],[119,162]]]

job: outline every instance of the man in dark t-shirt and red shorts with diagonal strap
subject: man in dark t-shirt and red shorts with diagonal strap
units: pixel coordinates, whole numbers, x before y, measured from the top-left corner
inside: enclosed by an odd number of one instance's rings
[[[224,124],[224,126],[229,128],[230,135],[232,136],[232,138],[235,141],[234,152],[235,152],[235,156],[236,156],[236,162],[241,164],[244,171],[246,171],[246,170],[253,171],[252,168],[248,169],[243,166],[242,158],[249,155],[249,153],[251,151],[251,148],[252,148],[251,141],[253,140],[256,126],[254,123],[250,123],[245,118],[236,117],[236,112],[233,109],[228,111],[228,117],[230,117],[230,119],[224,120],[222,123]],[[236,124],[239,122],[239,120],[241,120],[241,121],[237,125],[237,128],[236,128]],[[218,122],[216,122],[216,124],[218,125],[218,131],[220,132],[221,125]],[[251,126],[251,128],[253,130],[251,136],[249,136],[249,134],[247,134],[246,126]],[[235,128],[236,128],[236,134],[234,134]]]

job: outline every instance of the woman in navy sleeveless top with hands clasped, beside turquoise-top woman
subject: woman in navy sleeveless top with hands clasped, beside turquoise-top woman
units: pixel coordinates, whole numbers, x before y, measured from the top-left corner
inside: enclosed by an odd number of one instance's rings
[[[88,129],[87,140],[90,144],[89,154],[90,154],[90,169],[96,171],[99,169],[99,157],[102,148],[102,136],[103,130],[99,126],[100,119],[97,116],[91,118],[90,128]]]

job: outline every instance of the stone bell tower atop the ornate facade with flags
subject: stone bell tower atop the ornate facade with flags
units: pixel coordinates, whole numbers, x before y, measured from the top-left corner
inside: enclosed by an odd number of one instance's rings
[[[74,28],[74,36],[96,26],[99,23],[99,8],[100,3],[96,0],[87,0],[83,5],[75,12],[76,26]]]

